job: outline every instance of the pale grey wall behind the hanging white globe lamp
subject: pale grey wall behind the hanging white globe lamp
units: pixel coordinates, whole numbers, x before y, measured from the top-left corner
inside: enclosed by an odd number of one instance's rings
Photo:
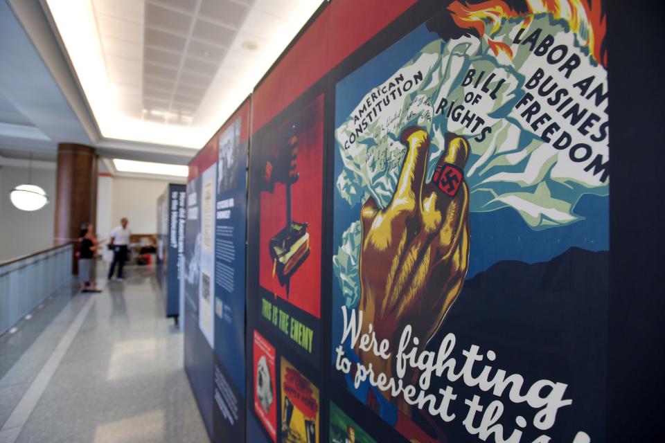
[[[33,184],[51,199],[35,212],[18,210],[9,199],[10,190],[27,181],[28,168],[0,165],[0,261],[53,246],[55,163],[52,169],[33,168]]]

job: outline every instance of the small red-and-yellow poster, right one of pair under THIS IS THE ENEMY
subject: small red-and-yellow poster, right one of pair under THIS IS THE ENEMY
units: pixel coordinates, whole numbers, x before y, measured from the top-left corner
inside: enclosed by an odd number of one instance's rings
[[[319,388],[281,358],[281,443],[319,442]]]

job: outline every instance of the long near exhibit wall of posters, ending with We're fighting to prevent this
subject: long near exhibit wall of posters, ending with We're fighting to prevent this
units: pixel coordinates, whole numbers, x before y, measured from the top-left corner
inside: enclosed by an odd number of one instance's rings
[[[323,4],[190,163],[215,442],[608,440],[606,8]]]

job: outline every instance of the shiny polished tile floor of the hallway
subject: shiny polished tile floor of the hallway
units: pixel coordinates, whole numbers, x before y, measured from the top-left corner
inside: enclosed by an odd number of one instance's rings
[[[0,337],[0,443],[209,442],[152,271],[127,275]]]

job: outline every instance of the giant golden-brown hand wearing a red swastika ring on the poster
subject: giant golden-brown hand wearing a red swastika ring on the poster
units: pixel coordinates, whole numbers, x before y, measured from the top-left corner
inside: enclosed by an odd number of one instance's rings
[[[425,347],[461,291],[469,260],[469,190],[463,179],[470,148],[447,134],[432,181],[424,183],[429,136],[418,127],[402,132],[408,147],[393,199],[361,209],[360,306],[362,327],[378,340],[399,343],[405,326]],[[394,361],[359,351],[364,365],[389,377]],[[394,355],[394,352],[393,352]],[[413,375],[413,374],[411,374]]]

